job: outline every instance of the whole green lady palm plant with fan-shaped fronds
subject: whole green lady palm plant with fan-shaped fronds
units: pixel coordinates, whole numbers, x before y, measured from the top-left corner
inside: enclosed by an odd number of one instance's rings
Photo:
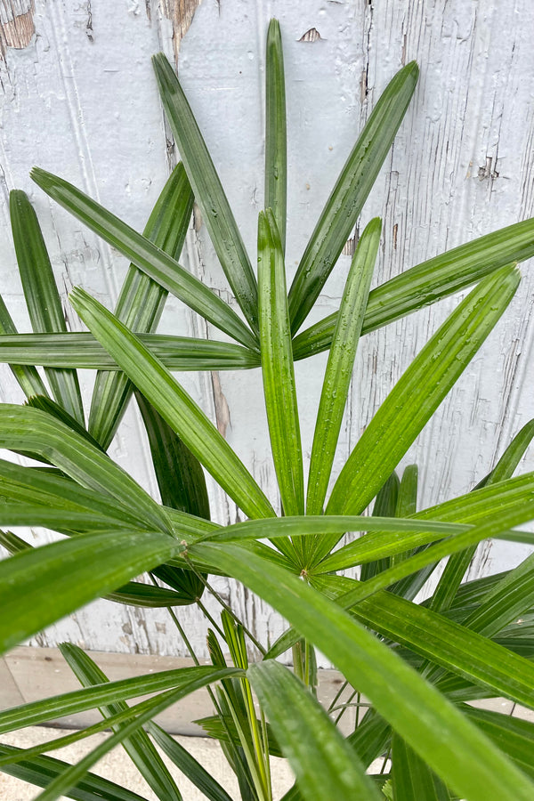
[[[0,406],[0,445],[41,464],[0,461],[0,524],[42,525],[64,536],[35,548],[10,531],[0,534],[12,554],[0,563],[2,651],[104,596],[167,607],[196,666],[109,682],[84,651],[63,645],[82,689],[4,710],[0,732],[89,708],[101,710],[101,723],[36,748],[2,745],[0,769],[42,787],[39,801],[61,795],[140,801],[137,793],[91,773],[101,756],[122,743],[156,796],[176,801],[180,789],[156,743],[207,798],[228,801],[210,773],[153,722],[176,700],[208,686],[214,716],[202,724],[221,741],[244,799],[271,799],[270,756],[282,754],[295,773],[287,801],[530,801],[534,725],[481,711],[469,701],[505,696],[534,707],[534,557],[514,570],[462,581],[483,540],[534,542],[534,535],[517,528],[534,519],[534,473],[512,477],[534,421],[472,492],[437,506],[417,510],[416,465],[401,477],[395,469],[514,296],[516,263],[534,255],[534,220],[436,256],[369,292],[381,233],[374,219],[352,258],[339,311],[301,331],[401,125],[418,70],[413,62],[401,69],[377,102],[287,292],[285,94],[276,20],[266,63],[265,210],[258,220],[257,278],[198,125],[162,55],[154,67],[182,163],[144,234],[65,180],[33,171],[41,189],[132,262],[115,312],[81,288],[71,293],[88,333],[65,330],[36,214],[22,192],[12,192],[13,239],[34,333],[18,334],[0,304],[0,360],[11,366],[28,397],[24,406]],[[193,196],[242,314],[177,261]],[[360,336],[471,286],[377,410],[334,480]],[[155,333],[169,292],[231,342]],[[325,350],[306,486],[294,361]],[[36,365],[44,367],[48,389]],[[98,370],[87,424],[78,368]],[[265,496],[172,375],[230,368],[262,369],[279,499]],[[133,393],[161,503],[106,453]],[[247,520],[230,526],[210,520],[203,468]],[[363,514],[373,500],[373,514]],[[344,534],[352,531],[364,533],[345,542]],[[444,560],[433,595],[415,603]],[[354,567],[360,568],[358,580],[340,575]],[[143,572],[151,584],[134,580]],[[225,607],[220,625],[212,621],[208,633],[212,665],[200,666],[174,608],[214,593],[209,574],[242,581],[283,615],[285,633],[270,646],[259,643]],[[339,699],[329,710],[317,700],[316,648],[341,671],[355,703],[368,705],[348,737],[333,719]],[[293,671],[276,660],[290,649]],[[148,700],[126,705],[148,693]],[[105,729],[111,729],[109,738],[77,765],[42,756]],[[378,757],[384,758],[384,771],[369,776],[368,765]]]

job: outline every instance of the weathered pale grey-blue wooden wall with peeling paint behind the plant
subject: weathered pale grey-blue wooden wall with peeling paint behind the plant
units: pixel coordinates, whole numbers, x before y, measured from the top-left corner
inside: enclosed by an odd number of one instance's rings
[[[64,289],[83,285],[112,306],[125,260],[36,189],[34,164],[60,174],[141,230],[174,148],[150,68],[163,50],[220,172],[250,253],[263,202],[263,70],[268,20],[284,38],[289,134],[289,279],[360,128],[401,65],[417,59],[414,100],[358,225],[376,214],[384,232],[375,285],[442,250],[534,215],[534,5],[530,0],[0,0],[0,287],[20,331],[29,330],[9,234],[8,192],[28,192]],[[357,233],[358,231],[356,231]],[[336,309],[351,243],[328,280],[317,316]],[[195,214],[182,263],[229,298]],[[457,387],[403,459],[420,470],[420,506],[469,490],[533,414],[534,265],[523,264],[514,302]],[[442,301],[360,345],[337,466],[428,336],[457,305]],[[169,299],[160,331],[206,336],[204,323]],[[208,332],[209,333],[209,332]],[[297,365],[303,448],[309,456],[324,354]],[[93,376],[81,374],[90,388]],[[271,498],[276,498],[259,371],[181,374]],[[20,401],[7,368],[0,400]],[[157,493],[131,410],[110,451]],[[401,465],[401,466],[402,466]],[[534,449],[522,470],[534,468]],[[214,515],[233,521],[212,486]],[[33,531],[35,541],[52,535]],[[518,562],[524,548],[484,546],[471,575]],[[243,588],[218,582],[248,624],[271,639],[280,621]],[[53,588],[51,588],[53,591]],[[205,631],[190,608],[194,644]],[[71,639],[102,651],[182,654],[165,611],[93,603],[32,643]]]

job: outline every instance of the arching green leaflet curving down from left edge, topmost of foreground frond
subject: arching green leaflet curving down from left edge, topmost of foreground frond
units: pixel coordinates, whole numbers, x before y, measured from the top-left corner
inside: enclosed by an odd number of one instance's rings
[[[115,498],[145,527],[170,530],[165,511],[85,437],[40,409],[0,405],[0,447],[36,451],[89,490]]]

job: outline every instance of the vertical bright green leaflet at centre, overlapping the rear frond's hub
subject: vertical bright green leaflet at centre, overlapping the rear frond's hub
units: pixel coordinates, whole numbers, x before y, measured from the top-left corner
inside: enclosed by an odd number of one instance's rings
[[[271,209],[258,218],[258,292],[263,392],[285,514],[303,514],[303,451],[296,404],[286,272]]]

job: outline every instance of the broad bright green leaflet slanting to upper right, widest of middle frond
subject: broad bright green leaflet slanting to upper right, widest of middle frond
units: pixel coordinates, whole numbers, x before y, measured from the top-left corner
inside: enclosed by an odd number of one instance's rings
[[[490,334],[518,282],[513,268],[482,280],[425,344],[345,462],[327,514],[365,509]]]

